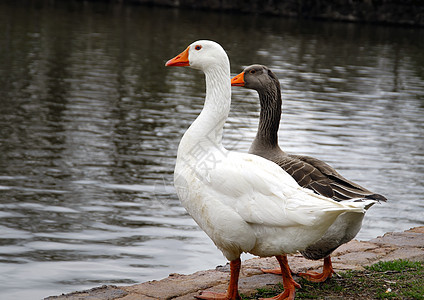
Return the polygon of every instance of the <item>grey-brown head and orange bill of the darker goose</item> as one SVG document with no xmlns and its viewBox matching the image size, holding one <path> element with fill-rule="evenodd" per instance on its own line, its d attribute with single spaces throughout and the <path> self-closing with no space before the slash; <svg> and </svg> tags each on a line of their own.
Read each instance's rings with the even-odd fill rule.
<svg viewBox="0 0 424 300">
<path fill-rule="evenodd" d="M 277 76 L 270 69 L 263 65 L 251 65 L 246 67 L 243 72 L 231 80 L 232 86 L 242 86 L 248 89 L 262 92 L 268 89 L 274 89 L 274 86 L 280 88 L 280 82 Z"/>
</svg>

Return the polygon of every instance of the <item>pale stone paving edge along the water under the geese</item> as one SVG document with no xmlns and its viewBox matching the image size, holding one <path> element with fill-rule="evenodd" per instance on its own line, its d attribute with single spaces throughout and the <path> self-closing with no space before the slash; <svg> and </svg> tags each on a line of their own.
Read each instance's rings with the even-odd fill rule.
<svg viewBox="0 0 424 300">
<path fill-rule="evenodd" d="M 408 259 L 424 261 L 424 226 L 414 227 L 403 232 L 388 232 L 369 241 L 352 240 L 342 245 L 332 254 L 336 272 L 363 270 L 364 266 L 379 261 Z M 300 254 L 288 256 L 293 272 L 320 270 L 322 260 L 313 261 Z M 281 276 L 264 274 L 261 268 L 276 268 L 274 257 L 251 258 L 243 261 L 240 273 L 239 290 L 252 295 L 258 288 L 276 285 Z M 294 277 L 295 280 L 297 276 Z M 189 275 L 171 273 L 167 278 L 152 280 L 129 286 L 104 285 L 90 290 L 50 296 L 45 300 L 153 300 L 153 299 L 194 299 L 201 290 L 224 292 L 229 280 L 229 265 L 218 266 L 214 270 L 198 271 Z"/>
</svg>

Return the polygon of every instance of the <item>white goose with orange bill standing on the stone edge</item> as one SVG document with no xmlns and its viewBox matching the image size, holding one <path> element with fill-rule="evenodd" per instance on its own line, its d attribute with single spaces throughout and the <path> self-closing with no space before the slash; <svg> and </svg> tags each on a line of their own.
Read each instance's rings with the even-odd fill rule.
<svg viewBox="0 0 424 300">
<path fill-rule="evenodd" d="M 316 242 L 344 212 L 363 213 L 374 200 L 339 203 L 300 187 L 277 164 L 222 146 L 230 111 L 230 63 L 222 47 L 200 40 L 169 60 L 166 66 L 190 66 L 206 75 L 206 99 L 178 147 L 174 184 L 178 197 L 197 224 L 230 261 L 227 293 L 203 292 L 199 299 L 240 299 L 240 255 L 277 256 L 284 293 L 273 299 L 294 299 L 295 287 L 282 254 L 304 250 Z"/>
</svg>

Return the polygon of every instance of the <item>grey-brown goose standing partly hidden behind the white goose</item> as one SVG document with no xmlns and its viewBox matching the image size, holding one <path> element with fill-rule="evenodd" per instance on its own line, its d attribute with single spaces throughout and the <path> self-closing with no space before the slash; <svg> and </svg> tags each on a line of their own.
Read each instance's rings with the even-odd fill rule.
<svg viewBox="0 0 424 300">
<path fill-rule="evenodd" d="M 281 90 L 278 78 L 266 66 L 252 65 L 231 80 L 231 85 L 254 89 L 261 105 L 259 127 L 249 153 L 277 163 L 300 186 L 336 201 L 354 201 L 358 198 L 386 201 L 364 187 L 347 180 L 325 162 L 305 155 L 287 154 L 278 146 L 278 128 L 281 117 Z M 315 244 L 301 251 L 308 259 L 324 258 L 323 272 L 300 273 L 302 277 L 323 282 L 334 273 L 330 254 L 340 245 L 353 239 L 362 226 L 364 215 L 345 213 L 340 215 L 326 234 Z M 280 273 L 279 270 L 267 270 Z"/>
</svg>

